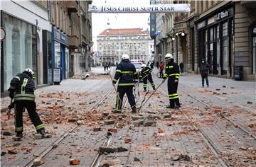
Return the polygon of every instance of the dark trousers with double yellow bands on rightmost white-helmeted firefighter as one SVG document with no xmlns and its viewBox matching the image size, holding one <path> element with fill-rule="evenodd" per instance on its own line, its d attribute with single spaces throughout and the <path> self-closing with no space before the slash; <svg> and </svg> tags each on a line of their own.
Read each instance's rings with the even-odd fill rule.
<svg viewBox="0 0 256 167">
<path fill-rule="evenodd" d="M 174 79 L 168 79 L 168 93 L 169 93 L 169 100 L 171 108 L 174 108 L 175 104 L 180 105 L 178 100 L 178 83 L 174 82 Z"/>
</svg>

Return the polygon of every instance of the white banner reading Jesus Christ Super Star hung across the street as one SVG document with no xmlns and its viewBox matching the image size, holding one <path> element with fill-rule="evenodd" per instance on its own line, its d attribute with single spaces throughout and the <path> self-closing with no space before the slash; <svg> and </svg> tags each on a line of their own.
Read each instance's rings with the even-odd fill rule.
<svg viewBox="0 0 256 167">
<path fill-rule="evenodd" d="M 154 5 L 89 5 L 89 12 L 93 13 L 176 13 L 190 12 L 190 4 L 154 4 Z"/>
</svg>

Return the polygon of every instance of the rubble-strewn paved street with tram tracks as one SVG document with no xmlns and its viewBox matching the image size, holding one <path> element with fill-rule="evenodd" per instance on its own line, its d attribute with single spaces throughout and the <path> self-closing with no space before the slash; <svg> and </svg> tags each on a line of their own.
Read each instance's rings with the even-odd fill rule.
<svg viewBox="0 0 256 167">
<path fill-rule="evenodd" d="M 115 67 L 111 67 L 112 77 Z M 161 79 L 152 76 L 156 87 Z M 156 90 L 139 113 L 132 114 L 127 97 L 114 114 L 116 93 L 102 67 L 90 76 L 73 76 L 60 85 L 38 88 L 37 112 L 49 138 L 37 139 L 28 113 L 23 113 L 23 138 L 14 141 L 11 119 L 1 113 L 1 166 L 256 166 L 256 100 L 254 81 L 234 81 L 181 74 L 178 96 L 181 109 L 169 104 L 167 82 Z M 137 109 L 153 92 L 137 86 Z M 146 94 L 146 97 L 145 97 Z M 1 108 L 9 105 L 1 98 Z M 13 153 L 13 154 L 11 154 Z"/>
</svg>

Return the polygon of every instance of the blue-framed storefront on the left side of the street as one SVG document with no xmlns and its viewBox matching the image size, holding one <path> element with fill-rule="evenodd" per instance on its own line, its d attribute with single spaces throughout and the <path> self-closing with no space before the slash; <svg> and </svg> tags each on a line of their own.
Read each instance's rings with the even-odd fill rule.
<svg viewBox="0 0 256 167">
<path fill-rule="evenodd" d="M 53 68 L 60 68 L 62 72 L 62 79 L 68 79 L 70 62 L 68 37 L 57 30 L 55 27 L 53 27 L 52 32 Z"/>
</svg>

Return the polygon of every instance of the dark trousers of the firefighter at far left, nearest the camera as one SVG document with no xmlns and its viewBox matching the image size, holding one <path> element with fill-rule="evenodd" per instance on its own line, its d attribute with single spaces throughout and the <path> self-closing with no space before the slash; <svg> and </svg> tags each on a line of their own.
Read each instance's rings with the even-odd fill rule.
<svg viewBox="0 0 256 167">
<path fill-rule="evenodd" d="M 28 115 L 39 132 L 44 129 L 43 122 L 40 120 L 38 113 L 36 113 L 36 102 L 32 100 L 16 100 L 15 101 L 15 132 L 23 132 L 23 110 L 28 110 Z"/>
</svg>

